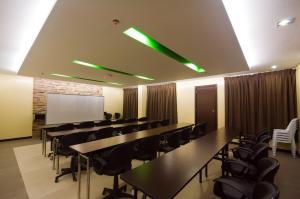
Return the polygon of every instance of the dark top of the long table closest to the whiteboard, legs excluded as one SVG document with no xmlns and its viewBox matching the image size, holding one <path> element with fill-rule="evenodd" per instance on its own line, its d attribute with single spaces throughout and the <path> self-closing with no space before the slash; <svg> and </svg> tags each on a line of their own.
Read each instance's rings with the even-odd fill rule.
<svg viewBox="0 0 300 199">
<path fill-rule="evenodd" d="M 81 128 L 81 129 L 73 129 L 73 130 L 67 130 L 67 131 L 53 131 L 53 132 L 47 132 L 47 135 L 49 137 L 58 137 L 58 136 L 70 135 L 70 134 L 74 134 L 74 133 L 98 131 L 100 129 L 104 129 L 107 127 L 122 128 L 122 127 L 129 126 L 129 125 L 141 125 L 141 124 L 145 124 L 145 123 L 150 123 L 150 121 L 112 124 L 112 125 L 105 125 L 105 126 L 94 126 L 91 128 Z"/>
</svg>

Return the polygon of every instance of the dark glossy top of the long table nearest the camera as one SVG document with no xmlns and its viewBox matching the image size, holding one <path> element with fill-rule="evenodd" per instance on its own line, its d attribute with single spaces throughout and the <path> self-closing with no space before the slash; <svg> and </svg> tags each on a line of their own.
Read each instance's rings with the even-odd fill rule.
<svg viewBox="0 0 300 199">
<path fill-rule="evenodd" d="M 173 198 L 235 135 L 224 128 L 210 132 L 122 174 L 121 179 L 152 198 Z"/>
</svg>

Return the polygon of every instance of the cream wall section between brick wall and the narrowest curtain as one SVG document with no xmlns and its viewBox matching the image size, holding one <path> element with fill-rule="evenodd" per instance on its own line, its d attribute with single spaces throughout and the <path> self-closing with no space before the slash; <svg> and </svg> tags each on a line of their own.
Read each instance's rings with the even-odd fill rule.
<svg viewBox="0 0 300 199">
<path fill-rule="evenodd" d="M 104 111 L 123 115 L 123 89 L 103 86 Z"/>
</svg>

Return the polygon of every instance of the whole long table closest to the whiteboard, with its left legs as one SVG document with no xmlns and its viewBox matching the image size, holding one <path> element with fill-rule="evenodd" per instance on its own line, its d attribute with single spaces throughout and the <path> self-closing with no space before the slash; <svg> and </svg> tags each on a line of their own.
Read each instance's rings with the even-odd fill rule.
<svg viewBox="0 0 300 199">
<path fill-rule="evenodd" d="M 151 121 L 138 121 L 138 122 L 131 122 L 131 123 L 94 126 L 91 128 L 76 128 L 73 130 L 51 131 L 51 132 L 47 132 L 47 128 L 43 128 L 42 129 L 42 155 L 44 155 L 45 157 L 47 155 L 47 137 L 56 138 L 56 137 L 70 135 L 70 134 L 74 134 L 74 133 L 93 132 L 93 131 L 98 131 L 100 129 L 107 128 L 107 127 L 113 127 L 113 128 L 119 129 L 119 128 L 129 126 L 129 125 L 141 125 L 141 124 L 150 123 L 150 122 Z M 49 126 L 50 125 L 48 125 L 48 127 Z M 54 126 L 54 125 L 52 125 L 52 126 Z M 53 128 L 52 126 L 51 126 L 51 128 Z M 57 126 L 57 125 L 55 125 L 55 126 Z"/>
</svg>

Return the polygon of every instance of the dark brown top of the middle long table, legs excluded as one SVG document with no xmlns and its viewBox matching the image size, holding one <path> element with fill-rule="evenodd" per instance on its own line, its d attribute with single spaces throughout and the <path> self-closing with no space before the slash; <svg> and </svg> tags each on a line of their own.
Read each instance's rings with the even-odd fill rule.
<svg viewBox="0 0 300 199">
<path fill-rule="evenodd" d="M 115 136 L 115 137 L 111 137 L 111 138 L 77 144 L 77 145 L 71 146 L 70 148 L 74 149 L 75 151 L 77 151 L 81 154 L 86 154 L 86 153 L 90 153 L 93 151 L 116 146 L 116 145 L 119 145 L 122 143 L 131 142 L 131 141 L 139 140 L 139 139 L 154 136 L 154 135 L 160 135 L 163 133 L 168 133 L 170 131 L 182 129 L 182 128 L 192 126 L 192 125 L 193 124 L 190 124 L 190 123 L 171 124 L 171 125 L 163 126 L 163 127 L 159 127 L 159 128 L 138 131 L 138 132 L 129 133 L 126 135 L 120 135 L 120 136 Z"/>
</svg>

